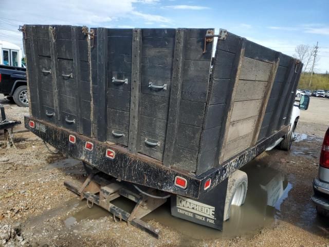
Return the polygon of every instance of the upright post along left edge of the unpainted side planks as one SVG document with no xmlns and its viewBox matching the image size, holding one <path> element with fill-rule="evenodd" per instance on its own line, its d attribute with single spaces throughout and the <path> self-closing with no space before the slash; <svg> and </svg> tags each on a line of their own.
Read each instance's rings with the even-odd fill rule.
<svg viewBox="0 0 329 247">
<path fill-rule="evenodd" d="M 245 48 L 246 48 L 247 40 L 245 38 L 239 38 L 239 39 L 240 39 L 239 48 L 237 49 L 237 52 L 235 55 L 233 68 L 232 68 L 232 74 L 231 74 L 232 93 L 228 94 L 228 97 L 226 100 L 226 114 L 224 116 L 227 116 L 227 117 L 224 120 L 224 122 L 225 122 L 224 130 L 221 133 L 220 138 L 218 140 L 218 146 L 217 146 L 218 149 L 217 149 L 217 153 L 216 153 L 216 160 L 218 160 L 218 162 L 215 162 L 216 167 L 218 167 L 220 164 L 222 164 L 222 162 L 224 160 L 224 147 L 226 144 L 228 131 L 230 128 L 231 116 L 232 116 L 232 111 L 233 111 L 233 106 L 234 106 L 234 99 L 235 99 L 237 84 L 239 84 L 241 66 L 242 66 L 243 58 L 245 56 Z M 223 137 L 223 138 L 221 138 L 221 137 Z"/>
</svg>

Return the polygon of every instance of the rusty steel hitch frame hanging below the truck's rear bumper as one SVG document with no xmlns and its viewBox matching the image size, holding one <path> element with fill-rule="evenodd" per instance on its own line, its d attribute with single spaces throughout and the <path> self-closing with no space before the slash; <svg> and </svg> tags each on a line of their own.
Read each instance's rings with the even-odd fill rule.
<svg viewBox="0 0 329 247">
<path fill-rule="evenodd" d="M 113 214 L 114 221 L 124 220 L 128 224 L 132 224 L 140 230 L 158 238 L 159 230 L 142 221 L 141 218 L 165 203 L 167 198 L 156 199 L 145 195 L 138 195 L 130 189 L 125 188 L 124 185 L 106 180 L 97 175 L 97 173 L 98 171 L 90 173 L 82 184 L 78 185 L 76 182 L 65 181 L 64 185 L 69 190 L 77 193 L 81 200 L 86 199 L 89 208 L 92 208 L 96 204 Z M 152 193 L 152 191 L 149 193 Z M 128 213 L 111 203 L 111 201 L 121 196 L 136 202 L 132 213 Z"/>
</svg>

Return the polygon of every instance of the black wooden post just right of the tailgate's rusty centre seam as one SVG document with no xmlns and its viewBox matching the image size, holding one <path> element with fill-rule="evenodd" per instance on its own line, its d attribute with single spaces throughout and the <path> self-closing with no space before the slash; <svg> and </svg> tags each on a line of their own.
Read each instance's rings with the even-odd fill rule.
<svg viewBox="0 0 329 247">
<path fill-rule="evenodd" d="M 97 85 L 98 85 L 98 116 L 97 139 L 106 141 L 107 133 L 107 29 L 97 29 Z"/>
</svg>

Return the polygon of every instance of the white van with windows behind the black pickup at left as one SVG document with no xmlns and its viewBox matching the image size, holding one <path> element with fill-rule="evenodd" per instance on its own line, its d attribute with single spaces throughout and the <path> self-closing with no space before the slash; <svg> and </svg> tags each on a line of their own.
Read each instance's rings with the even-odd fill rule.
<svg viewBox="0 0 329 247">
<path fill-rule="evenodd" d="M 0 41 L 0 64 L 22 67 L 21 47 L 7 41 Z"/>
</svg>

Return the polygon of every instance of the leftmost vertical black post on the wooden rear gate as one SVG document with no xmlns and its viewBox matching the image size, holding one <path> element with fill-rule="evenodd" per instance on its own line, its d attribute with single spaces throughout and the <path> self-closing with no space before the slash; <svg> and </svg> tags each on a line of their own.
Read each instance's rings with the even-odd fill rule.
<svg viewBox="0 0 329 247">
<path fill-rule="evenodd" d="M 34 86 L 36 87 L 35 88 L 35 93 L 36 93 L 36 102 L 34 104 L 34 106 L 32 107 L 32 101 L 29 101 L 30 102 L 30 108 L 31 108 L 31 111 L 32 109 L 35 109 L 35 112 L 32 112 L 33 113 L 33 116 L 34 117 L 38 117 L 40 118 L 40 115 L 41 115 L 41 96 L 40 96 L 40 90 L 41 90 L 41 85 L 40 85 L 40 81 L 39 81 L 39 72 L 38 72 L 38 63 L 39 61 L 37 61 L 38 59 L 38 52 L 36 51 L 36 47 L 38 47 L 38 44 L 37 44 L 37 40 L 35 38 L 35 34 L 36 34 L 36 31 L 35 31 L 35 26 L 31 26 L 31 36 L 30 36 L 30 45 L 31 45 L 31 60 L 32 60 L 32 65 L 30 66 L 32 68 L 32 76 L 29 76 L 29 80 L 35 80 L 34 82 Z M 27 65 L 29 66 L 29 65 Z M 29 73 L 30 75 L 30 73 Z M 28 83 L 28 85 L 30 85 L 30 83 Z M 35 97 L 35 96 L 34 96 Z"/>
</svg>

